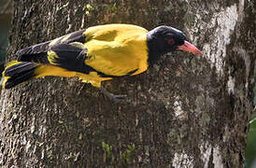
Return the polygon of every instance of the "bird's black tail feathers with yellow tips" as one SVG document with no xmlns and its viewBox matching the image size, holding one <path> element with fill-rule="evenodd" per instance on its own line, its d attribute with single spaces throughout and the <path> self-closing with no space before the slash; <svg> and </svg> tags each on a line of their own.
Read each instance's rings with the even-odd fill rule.
<svg viewBox="0 0 256 168">
<path fill-rule="evenodd" d="M 26 80 L 36 77 L 35 70 L 38 66 L 38 63 L 17 61 L 8 63 L 3 72 L 2 87 L 10 89 Z"/>
</svg>

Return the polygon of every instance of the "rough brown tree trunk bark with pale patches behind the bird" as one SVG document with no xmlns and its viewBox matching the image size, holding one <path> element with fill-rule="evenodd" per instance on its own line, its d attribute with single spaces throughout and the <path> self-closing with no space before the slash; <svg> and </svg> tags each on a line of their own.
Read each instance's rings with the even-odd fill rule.
<svg viewBox="0 0 256 168">
<path fill-rule="evenodd" d="M 242 167 L 252 111 L 255 5 L 51 0 L 14 2 L 7 60 L 18 49 L 108 22 L 183 30 L 203 58 L 169 53 L 135 77 L 107 81 L 114 104 L 76 78 L 2 91 L 3 167 Z"/>
</svg>

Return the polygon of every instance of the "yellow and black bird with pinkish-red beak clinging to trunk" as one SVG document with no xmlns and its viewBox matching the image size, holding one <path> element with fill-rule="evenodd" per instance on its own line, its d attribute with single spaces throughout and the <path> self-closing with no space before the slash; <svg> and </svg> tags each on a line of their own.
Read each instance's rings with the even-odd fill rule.
<svg viewBox="0 0 256 168">
<path fill-rule="evenodd" d="M 134 24 L 96 25 L 18 50 L 18 59 L 7 63 L 1 85 L 11 89 L 38 77 L 78 77 L 107 97 L 121 100 L 126 95 L 107 91 L 102 82 L 141 74 L 162 55 L 175 50 L 203 55 L 184 33 L 171 26 L 148 31 Z"/>
</svg>

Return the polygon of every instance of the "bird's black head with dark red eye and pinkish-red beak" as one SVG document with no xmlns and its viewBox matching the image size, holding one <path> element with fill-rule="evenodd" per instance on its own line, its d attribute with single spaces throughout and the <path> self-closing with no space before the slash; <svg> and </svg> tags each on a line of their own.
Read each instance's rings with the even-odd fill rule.
<svg viewBox="0 0 256 168">
<path fill-rule="evenodd" d="M 186 36 L 176 28 L 159 26 L 147 34 L 149 57 L 156 60 L 158 56 L 177 49 L 186 50 L 194 54 L 202 54 L 192 44 L 186 41 Z M 150 58 L 149 58 L 150 59 Z"/>
</svg>

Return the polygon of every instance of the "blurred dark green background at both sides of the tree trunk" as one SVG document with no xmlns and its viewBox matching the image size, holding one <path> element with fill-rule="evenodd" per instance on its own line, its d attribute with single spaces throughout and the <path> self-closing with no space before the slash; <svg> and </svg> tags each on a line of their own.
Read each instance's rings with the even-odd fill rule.
<svg viewBox="0 0 256 168">
<path fill-rule="evenodd" d="M 0 1 L 0 72 L 4 68 L 7 50 L 7 37 L 11 24 L 11 0 Z M 256 77 L 256 70 L 254 72 Z M 0 90 L 1 91 L 1 90 Z M 256 95 L 256 87 L 254 87 L 254 95 Z M 256 96 L 254 96 L 254 105 L 256 105 Z M 246 150 L 245 168 L 256 168 L 256 109 L 250 121 L 248 146 Z"/>
</svg>

